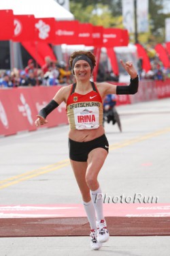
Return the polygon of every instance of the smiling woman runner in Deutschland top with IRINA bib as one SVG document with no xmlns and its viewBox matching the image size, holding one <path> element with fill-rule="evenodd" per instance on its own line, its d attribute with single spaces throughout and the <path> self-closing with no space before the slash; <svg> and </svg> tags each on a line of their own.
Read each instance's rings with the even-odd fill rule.
<svg viewBox="0 0 170 256">
<path fill-rule="evenodd" d="M 69 158 L 90 223 L 90 245 L 92 250 L 98 250 L 109 239 L 97 180 L 109 151 L 103 128 L 103 99 L 107 94 L 135 94 L 139 81 L 130 61 L 124 63 L 120 60 L 131 76 L 130 84 L 123 86 L 90 81 L 96 65 L 95 55 L 90 51 L 73 52 L 69 63 L 76 82 L 57 91 L 50 103 L 39 111 L 35 126 L 46 124 L 47 115 L 61 102 L 66 103 L 70 128 Z"/>
</svg>

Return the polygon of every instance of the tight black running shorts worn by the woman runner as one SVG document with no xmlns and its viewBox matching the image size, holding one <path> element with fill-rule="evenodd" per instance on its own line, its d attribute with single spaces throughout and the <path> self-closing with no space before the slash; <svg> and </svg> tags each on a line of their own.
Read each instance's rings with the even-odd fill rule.
<svg viewBox="0 0 170 256">
<path fill-rule="evenodd" d="M 109 152 L 109 143 L 105 134 L 92 141 L 78 142 L 69 139 L 69 158 L 78 162 L 86 162 L 91 150 L 102 147 Z"/>
</svg>

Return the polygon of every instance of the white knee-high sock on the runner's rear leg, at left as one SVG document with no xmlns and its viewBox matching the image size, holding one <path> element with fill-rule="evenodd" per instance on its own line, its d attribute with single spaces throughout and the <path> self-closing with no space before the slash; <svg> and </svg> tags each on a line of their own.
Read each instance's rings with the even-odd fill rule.
<svg viewBox="0 0 170 256">
<path fill-rule="evenodd" d="M 92 201 L 88 203 L 83 201 L 83 205 L 87 214 L 88 221 L 90 223 L 90 228 L 97 230 L 96 213 Z"/>
</svg>

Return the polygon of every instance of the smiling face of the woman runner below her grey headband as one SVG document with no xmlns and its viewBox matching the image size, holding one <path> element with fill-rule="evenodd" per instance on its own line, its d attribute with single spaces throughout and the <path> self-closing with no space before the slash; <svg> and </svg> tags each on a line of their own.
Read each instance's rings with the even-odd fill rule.
<svg viewBox="0 0 170 256">
<path fill-rule="evenodd" d="M 73 68 L 76 79 L 86 80 L 90 79 L 91 76 L 91 68 L 87 61 L 80 60 L 75 62 L 75 66 Z"/>
</svg>

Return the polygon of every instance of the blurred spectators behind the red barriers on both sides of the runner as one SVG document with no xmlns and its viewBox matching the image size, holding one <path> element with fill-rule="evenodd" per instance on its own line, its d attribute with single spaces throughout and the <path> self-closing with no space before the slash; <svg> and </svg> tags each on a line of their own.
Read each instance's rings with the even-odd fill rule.
<svg viewBox="0 0 170 256">
<path fill-rule="evenodd" d="M 152 53 L 152 54 L 150 54 Z M 148 52 L 151 69 L 146 72 L 142 69 L 142 59 L 138 60 L 138 74 L 140 80 L 152 79 L 158 81 L 165 81 L 170 78 L 170 67 L 165 68 L 163 63 L 153 50 Z M 99 65 L 97 74 L 97 81 L 119 81 L 118 74 L 110 72 L 108 67 Z M 46 56 L 44 59 L 44 66 L 37 68 L 37 64 L 33 59 L 29 59 L 27 67 L 24 70 L 0 70 L 0 88 L 3 87 L 20 87 L 20 86 L 35 86 L 35 85 L 67 85 L 73 82 L 73 74 L 69 70 L 67 63 L 64 61 L 53 61 Z"/>
</svg>

